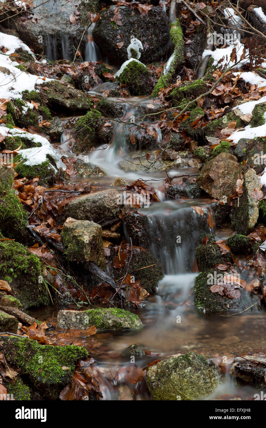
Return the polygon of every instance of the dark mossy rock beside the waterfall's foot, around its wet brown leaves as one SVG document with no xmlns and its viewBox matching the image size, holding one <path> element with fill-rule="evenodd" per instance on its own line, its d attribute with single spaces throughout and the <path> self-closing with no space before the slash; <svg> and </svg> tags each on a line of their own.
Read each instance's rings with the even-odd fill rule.
<svg viewBox="0 0 266 428">
<path fill-rule="evenodd" d="M 223 275 L 224 272 L 218 270 L 216 276 L 219 273 Z M 210 291 L 211 285 L 214 284 L 214 278 L 214 270 L 209 270 L 200 272 L 194 279 L 194 304 L 196 308 L 204 312 L 226 312 L 238 309 L 239 299 L 229 299 L 229 297 L 224 297 L 219 293 L 212 293 Z"/>
</svg>

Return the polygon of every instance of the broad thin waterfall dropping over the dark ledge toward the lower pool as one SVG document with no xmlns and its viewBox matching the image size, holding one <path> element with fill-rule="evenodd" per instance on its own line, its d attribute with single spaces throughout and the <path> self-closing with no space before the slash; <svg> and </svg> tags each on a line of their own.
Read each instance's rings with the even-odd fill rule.
<svg viewBox="0 0 266 428">
<path fill-rule="evenodd" d="M 191 205 L 200 205 L 202 215 Z M 138 211 L 146 214 L 143 238 L 145 235 L 148 249 L 159 260 L 164 274 L 191 272 L 200 233 L 212 231 L 208 207 L 195 201 L 167 201 Z"/>
</svg>

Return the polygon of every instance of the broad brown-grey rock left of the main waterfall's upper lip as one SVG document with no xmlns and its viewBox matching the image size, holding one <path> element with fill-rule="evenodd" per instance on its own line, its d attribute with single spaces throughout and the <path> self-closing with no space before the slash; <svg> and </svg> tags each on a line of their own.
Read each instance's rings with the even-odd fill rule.
<svg viewBox="0 0 266 428">
<path fill-rule="evenodd" d="M 117 201 L 119 201 L 119 193 L 116 189 L 89 193 L 69 202 L 60 218 L 65 221 L 67 217 L 72 217 L 76 220 L 89 220 L 103 224 L 118 218 L 122 206 Z"/>
</svg>

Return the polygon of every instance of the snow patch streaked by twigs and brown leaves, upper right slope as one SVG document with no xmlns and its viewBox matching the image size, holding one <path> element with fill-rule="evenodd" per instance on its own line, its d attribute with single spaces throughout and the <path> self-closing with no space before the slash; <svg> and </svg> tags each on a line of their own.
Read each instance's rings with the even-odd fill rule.
<svg viewBox="0 0 266 428">
<path fill-rule="evenodd" d="M 208 51 L 205 49 L 205 51 L 202 54 L 202 58 L 205 58 L 205 56 L 212 56 L 213 57 L 213 64 L 217 65 L 219 60 L 223 58 L 222 62 L 219 62 L 219 67 L 222 65 L 222 67 L 233 67 L 233 68 L 240 68 L 243 64 L 246 64 L 249 62 L 248 57 L 242 59 L 239 64 L 235 64 L 235 62 L 230 61 L 231 54 L 233 49 L 236 48 L 236 55 L 237 55 L 237 62 L 240 61 L 241 55 L 243 54 L 244 45 L 240 43 L 238 40 L 235 41 L 234 45 L 230 45 L 227 48 L 224 49 L 216 49 L 216 51 Z M 246 56 L 248 55 L 248 52 L 246 52 Z"/>
</svg>

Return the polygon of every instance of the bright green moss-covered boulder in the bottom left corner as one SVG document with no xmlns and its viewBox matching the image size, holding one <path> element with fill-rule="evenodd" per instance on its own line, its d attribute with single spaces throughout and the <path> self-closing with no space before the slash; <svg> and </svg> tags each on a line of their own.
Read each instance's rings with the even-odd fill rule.
<svg viewBox="0 0 266 428">
<path fill-rule="evenodd" d="M 0 338 L 0 350 L 44 398 L 52 400 L 72 378 L 76 362 L 88 356 L 88 351 L 79 346 L 39 345 L 17 337 Z"/>
</svg>

